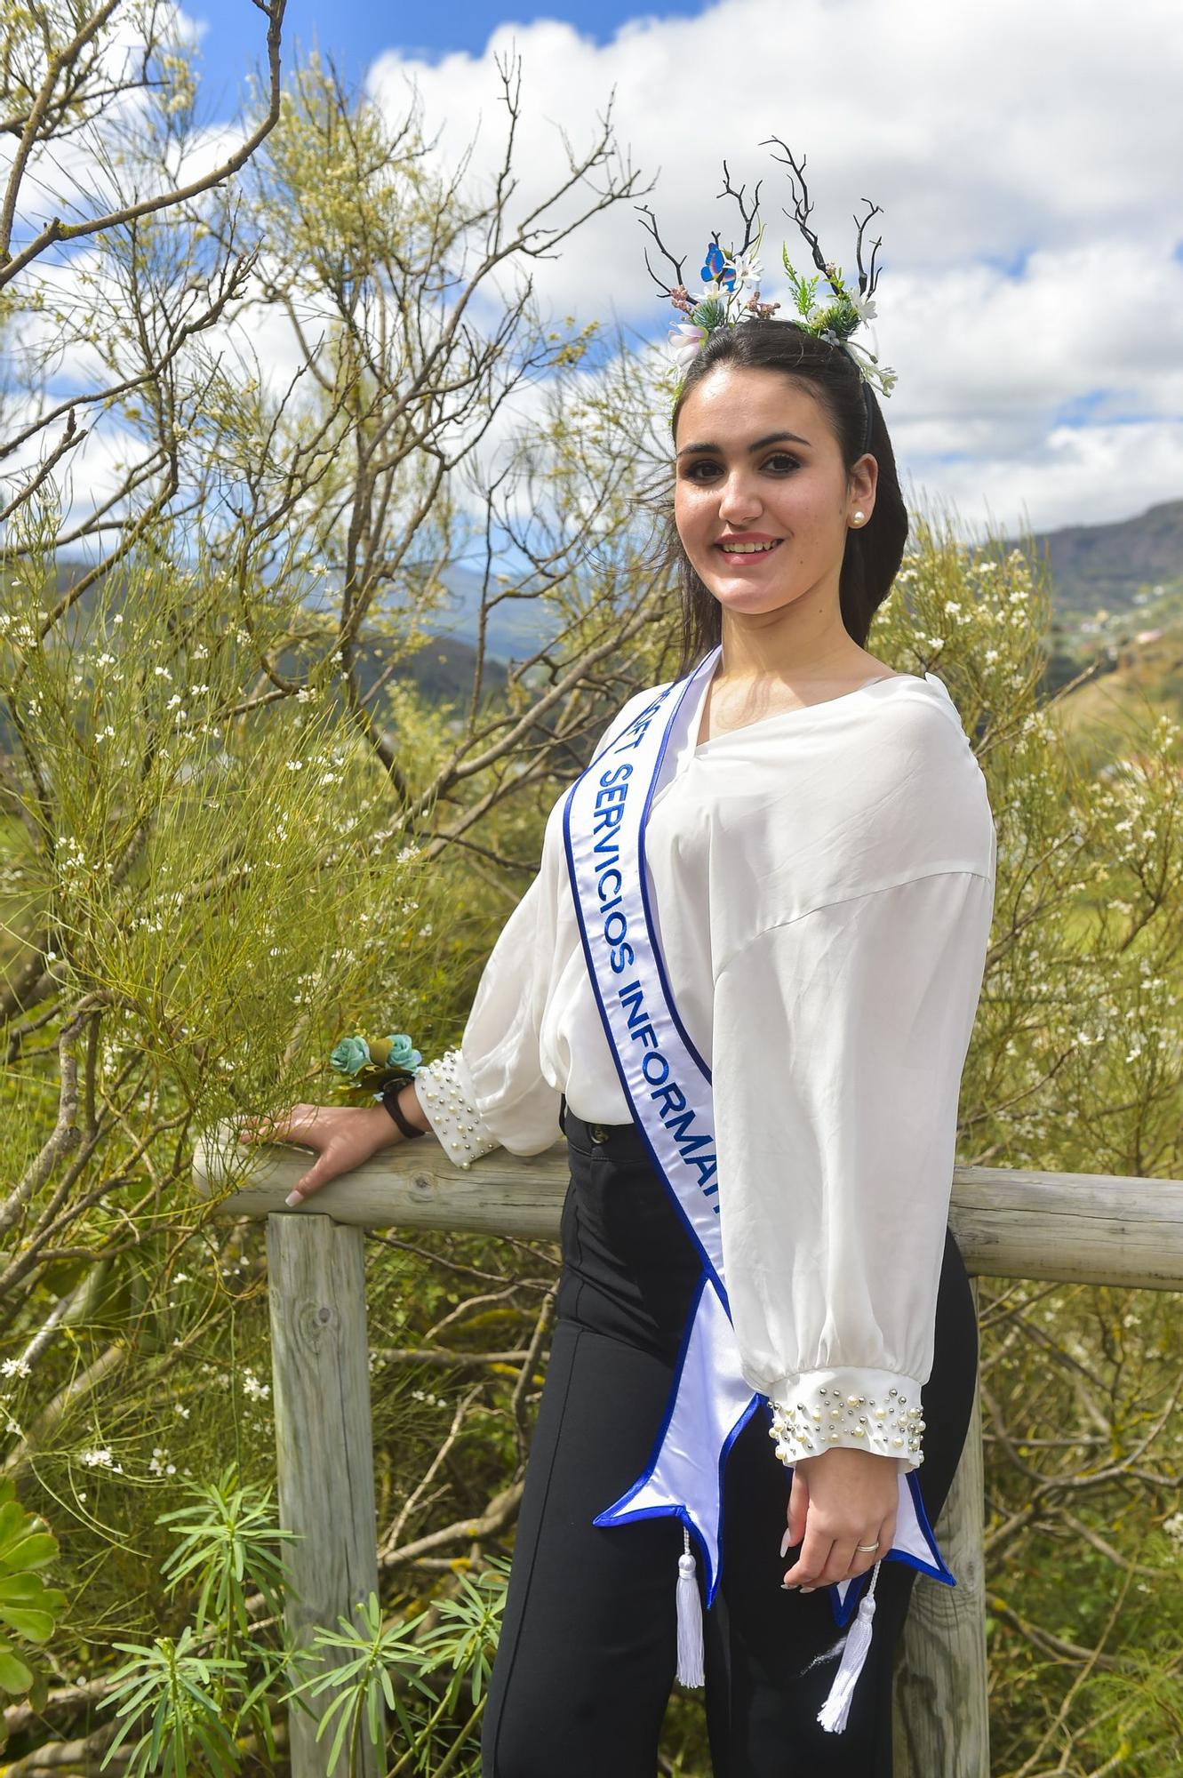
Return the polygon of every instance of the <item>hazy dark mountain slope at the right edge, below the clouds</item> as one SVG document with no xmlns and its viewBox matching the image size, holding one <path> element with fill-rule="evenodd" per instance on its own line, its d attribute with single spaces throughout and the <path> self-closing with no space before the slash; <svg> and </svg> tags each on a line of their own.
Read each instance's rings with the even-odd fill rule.
<svg viewBox="0 0 1183 1778">
<path fill-rule="evenodd" d="M 1116 525 L 1039 532 L 1034 544 L 1036 557 L 1046 557 L 1052 569 L 1055 610 L 1066 617 L 1128 612 L 1139 592 L 1183 590 L 1183 500 Z"/>
</svg>

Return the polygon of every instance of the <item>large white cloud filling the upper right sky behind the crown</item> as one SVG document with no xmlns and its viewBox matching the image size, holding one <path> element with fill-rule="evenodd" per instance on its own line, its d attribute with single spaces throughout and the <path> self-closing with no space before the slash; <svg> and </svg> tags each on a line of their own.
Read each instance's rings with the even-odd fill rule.
<svg viewBox="0 0 1183 1778">
<path fill-rule="evenodd" d="M 808 265 L 783 169 L 758 146 L 773 133 L 808 156 L 812 226 L 847 272 L 854 212 L 883 206 L 869 240 L 883 235 L 876 334 L 899 372 L 901 473 L 954 500 L 966 530 L 1124 517 L 1183 493 L 1176 0 L 1119 23 L 1100 0 L 721 0 L 606 44 L 544 20 L 497 27 L 481 55 L 391 52 L 369 91 L 401 116 L 410 76 L 444 160 L 476 135 L 471 178 L 487 180 L 506 124 L 496 59 L 512 50 L 517 213 L 560 180 L 560 128 L 586 148 L 613 89 L 618 142 L 641 185 L 655 178 L 641 201 L 695 277 L 711 229 L 726 240 L 737 219 L 716 201 L 723 156 L 734 181 L 764 181 L 766 267 L 782 238 Z M 560 313 L 652 331 L 666 311 L 645 242 L 620 203 L 536 261 L 536 288 Z M 993 267 L 1023 260 L 1018 277 Z M 1066 425 L 1075 411 L 1084 423 Z"/>
</svg>

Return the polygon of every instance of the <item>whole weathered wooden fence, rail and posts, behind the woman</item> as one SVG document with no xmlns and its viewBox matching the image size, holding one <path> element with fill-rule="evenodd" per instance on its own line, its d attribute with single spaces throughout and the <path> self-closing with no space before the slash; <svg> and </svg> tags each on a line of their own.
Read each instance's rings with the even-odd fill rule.
<svg viewBox="0 0 1183 1778">
<path fill-rule="evenodd" d="M 266 1218 L 279 1511 L 297 1645 L 355 1618 L 378 1591 L 362 1243 L 366 1229 L 449 1229 L 558 1237 L 567 1145 L 496 1149 L 453 1166 L 426 1136 L 389 1149 L 298 1209 L 284 1198 L 307 1152 L 243 1150 L 227 1125 L 197 1149 L 194 1182 L 224 1216 Z M 972 1278 L 1048 1278 L 1183 1291 L 1183 1181 L 959 1166 L 949 1213 Z M 977 1285 L 973 1285 L 977 1294 Z M 961 1465 L 936 1538 L 957 1586 L 918 1584 L 895 1687 L 899 1778 L 989 1778 L 982 1422 L 975 1390 Z M 329 1737 L 291 1714 L 293 1778 L 323 1778 Z M 366 1748 L 359 1778 L 382 1778 Z"/>
</svg>

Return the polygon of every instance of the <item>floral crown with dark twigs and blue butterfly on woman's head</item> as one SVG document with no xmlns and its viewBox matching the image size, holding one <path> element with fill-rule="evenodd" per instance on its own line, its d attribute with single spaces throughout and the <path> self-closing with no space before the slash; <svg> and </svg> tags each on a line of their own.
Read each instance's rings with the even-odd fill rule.
<svg viewBox="0 0 1183 1778">
<path fill-rule="evenodd" d="M 778 148 L 785 149 L 787 158 L 782 160 L 780 155 L 774 155 L 773 158 L 782 160 L 782 165 L 789 167 L 794 220 L 810 244 L 814 265 L 817 267 L 815 277 L 801 276 L 789 260 L 789 249 L 782 247 L 782 263 L 789 274 L 789 286 L 798 306 L 798 315 L 794 316 L 792 325 L 799 327 L 803 332 L 814 334 L 819 340 L 828 340 L 830 345 L 842 347 L 854 361 L 863 382 L 874 384 L 881 395 L 890 395 L 897 382 L 895 372 L 879 364 L 877 352 L 872 352 L 851 340 L 851 334 L 865 322 L 870 322 L 876 313 L 876 306 L 872 302 L 876 284 L 879 281 L 876 252 L 883 242 L 874 242 L 870 251 L 870 267 L 863 267 L 863 231 L 870 219 L 881 213 L 879 206 L 872 204 L 869 197 L 863 197 L 863 203 L 870 208 L 861 222 L 858 222 L 858 217 L 854 219 L 858 222 L 858 293 L 854 293 L 846 284 L 842 267 L 826 260 L 817 235 L 808 226 L 810 210 L 814 206 L 808 199 L 808 188 L 805 185 L 805 156 L 801 156 L 801 165 L 798 165 L 780 137 L 773 135 L 767 137 L 767 140 L 776 142 Z M 799 194 L 798 181 L 801 183 Z M 682 316 L 670 327 L 670 354 L 682 373 L 691 366 L 702 345 L 712 332 L 716 332 L 716 329 L 741 327 L 748 320 L 769 320 L 780 308 L 780 302 L 760 300 L 760 279 L 764 276 L 758 258 L 764 226 L 757 224 L 760 185 L 757 183 L 751 204 L 746 204 L 742 185 L 739 190 L 734 188 L 726 171 L 726 162 L 723 162 L 723 190 L 719 192 L 719 197 L 726 196 L 734 197 L 739 204 L 739 215 L 744 224 L 744 238 L 739 247 L 725 251 L 719 245 L 718 231 L 711 236 L 705 265 L 702 268 L 703 288 L 695 295 L 691 295 L 682 279 L 682 265 L 686 263 L 686 258 L 675 260 L 668 251 L 657 233 L 657 222 L 648 204 L 636 206 L 641 212 L 645 228 L 648 228 L 650 235 L 657 242 L 657 247 L 675 272 L 675 283 L 663 284 L 648 263 L 648 251 L 645 252 L 645 265 L 650 277 L 655 281 L 663 297 L 668 297 L 675 311 Z M 787 210 L 785 215 L 789 215 Z M 822 302 L 817 302 L 817 286 L 822 277 L 830 284 L 831 295 Z"/>
</svg>

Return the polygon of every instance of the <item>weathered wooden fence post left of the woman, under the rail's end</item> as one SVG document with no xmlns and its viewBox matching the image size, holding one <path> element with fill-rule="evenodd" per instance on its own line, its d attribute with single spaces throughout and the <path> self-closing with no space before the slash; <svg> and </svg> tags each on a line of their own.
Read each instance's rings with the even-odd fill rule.
<svg viewBox="0 0 1183 1778">
<path fill-rule="evenodd" d="M 284 1545 L 297 1646 L 314 1625 L 339 1630 L 339 1616 L 361 1627 L 357 1604 L 378 1593 L 364 1241 L 362 1229 L 309 1211 L 266 1218 L 279 1518 L 300 1536 Z M 329 1664 L 332 1655 L 320 1671 Z M 336 1718 L 320 1744 L 316 1726 L 336 1694 L 302 1696 L 307 1710 L 293 1700 L 288 1714 L 291 1778 L 325 1778 Z M 357 1778 L 385 1773 L 382 1709 L 378 1732 L 375 1748 L 362 1719 Z"/>
</svg>

